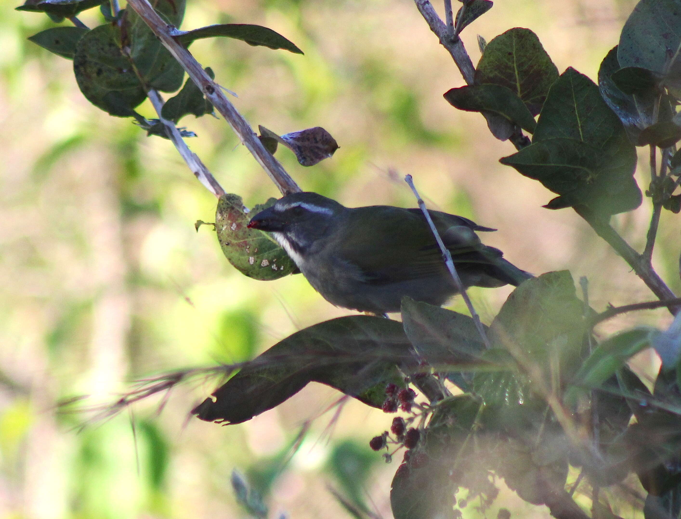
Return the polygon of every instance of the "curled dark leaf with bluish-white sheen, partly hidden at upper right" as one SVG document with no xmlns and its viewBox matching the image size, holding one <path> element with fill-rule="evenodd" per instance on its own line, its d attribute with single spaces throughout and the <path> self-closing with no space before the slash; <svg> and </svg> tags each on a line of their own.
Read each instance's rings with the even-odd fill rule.
<svg viewBox="0 0 681 519">
<path fill-rule="evenodd" d="M 641 130 L 655 122 L 657 95 L 654 91 L 635 96 L 622 92 L 612 80 L 612 75 L 619 69 L 620 63 L 617 61 L 617 46 L 615 46 L 601 62 L 598 71 L 599 91 L 607 106 L 622 121 L 629 134 L 629 140 L 636 144 Z"/>
</svg>

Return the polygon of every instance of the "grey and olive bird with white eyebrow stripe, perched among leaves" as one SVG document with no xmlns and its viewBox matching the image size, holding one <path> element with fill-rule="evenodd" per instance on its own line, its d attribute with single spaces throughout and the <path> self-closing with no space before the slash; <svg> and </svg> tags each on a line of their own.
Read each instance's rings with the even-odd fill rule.
<svg viewBox="0 0 681 519">
<path fill-rule="evenodd" d="M 475 234 L 494 229 L 429 212 L 464 287 L 519 285 L 532 277 Z M 400 311 L 402 296 L 441 305 L 458 293 L 420 209 L 349 208 L 317 193 L 293 193 L 257 213 L 248 226 L 272 233 L 315 290 L 336 306 L 381 315 Z"/>
</svg>

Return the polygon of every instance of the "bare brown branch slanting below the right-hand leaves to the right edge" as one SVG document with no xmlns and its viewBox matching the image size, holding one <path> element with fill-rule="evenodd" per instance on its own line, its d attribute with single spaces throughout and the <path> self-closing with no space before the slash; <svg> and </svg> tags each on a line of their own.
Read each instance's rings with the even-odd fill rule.
<svg viewBox="0 0 681 519">
<path fill-rule="evenodd" d="M 592 229 L 595 230 L 596 234 L 609 243 L 622 259 L 633 268 L 637 276 L 648 285 L 648 288 L 652 290 L 652 293 L 655 294 L 657 298 L 663 301 L 676 298 L 674 292 L 671 292 L 671 289 L 662 281 L 657 272 L 655 272 L 650 265 L 650 262 L 646 262 L 642 255 L 637 253 L 605 219 L 593 213 L 586 206 L 576 206 L 574 209 L 577 215 L 584 218 Z M 669 311 L 674 315 L 676 315 L 680 309 L 681 305 L 674 304 L 673 306 L 669 306 Z"/>
</svg>

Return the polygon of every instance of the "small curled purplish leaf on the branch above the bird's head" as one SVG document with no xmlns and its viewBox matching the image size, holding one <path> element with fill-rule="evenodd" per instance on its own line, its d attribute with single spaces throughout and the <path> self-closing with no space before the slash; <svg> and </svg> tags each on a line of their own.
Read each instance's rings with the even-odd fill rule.
<svg viewBox="0 0 681 519">
<path fill-rule="evenodd" d="M 279 142 L 296 154 L 300 166 L 314 166 L 323 159 L 332 157 L 338 149 L 336 140 L 320 126 L 292 131 L 281 137 L 264 126 L 259 126 L 259 129 L 260 140 L 270 150 L 270 153 L 276 151 L 274 143 Z"/>
</svg>

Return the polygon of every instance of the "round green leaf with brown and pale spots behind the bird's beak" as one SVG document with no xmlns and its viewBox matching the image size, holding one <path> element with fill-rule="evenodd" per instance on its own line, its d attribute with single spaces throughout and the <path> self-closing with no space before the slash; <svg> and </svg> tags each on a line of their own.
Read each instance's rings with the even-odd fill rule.
<svg viewBox="0 0 681 519">
<path fill-rule="evenodd" d="M 251 213 L 259 213 L 274 204 L 270 198 Z M 215 230 L 223 254 L 242 274 L 260 281 L 271 281 L 291 274 L 296 264 L 267 234 L 247 227 L 250 217 L 238 195 L 220 197 L 215 213 Z"/>
</svg>

